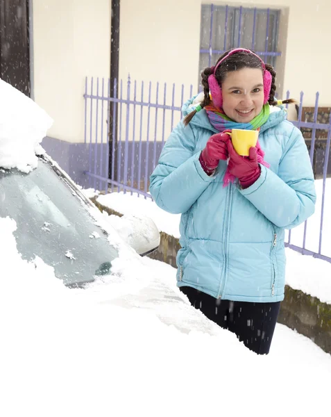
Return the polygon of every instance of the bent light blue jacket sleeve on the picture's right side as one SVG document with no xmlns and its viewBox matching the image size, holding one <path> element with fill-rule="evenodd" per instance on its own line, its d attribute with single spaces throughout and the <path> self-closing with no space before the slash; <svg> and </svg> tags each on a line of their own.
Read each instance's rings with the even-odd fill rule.
<svg viewBox="0 0 331 417">
<path fill-rule="evenodd" d="M 240 193 L 278 227 L 292 229 L 314 213 L 314 174 L 299 129 L 291 132 L 278 174 L 261 166 L 260 178 Z"/>
</svg>

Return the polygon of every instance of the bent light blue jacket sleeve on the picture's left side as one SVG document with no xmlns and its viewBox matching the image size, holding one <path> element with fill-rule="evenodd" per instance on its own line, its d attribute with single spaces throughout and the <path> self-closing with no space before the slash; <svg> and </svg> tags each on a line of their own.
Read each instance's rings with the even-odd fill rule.
<svg viewBox="0 0 331 417">
<path fill-rule="evenodd" d="M 201 167 L 201 152 L 196 153 L 195 146 L 192 127 L 181 121 L 171 132 L 151 174 L 151 195 L 169 213 L 185 213 L 214 179 Z"/>
</svg>

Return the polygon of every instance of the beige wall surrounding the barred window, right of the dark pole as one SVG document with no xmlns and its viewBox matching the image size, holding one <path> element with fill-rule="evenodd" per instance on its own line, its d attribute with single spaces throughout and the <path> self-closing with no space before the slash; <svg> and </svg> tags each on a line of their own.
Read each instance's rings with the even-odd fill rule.
<svg viewBox="0 0 331 417">
<path fill-rule="evenodd" d="M 203 1 L 282 9 L 279 34 L 284 73 L 279 78 L 291 97 L 305 92 L 305 105 L 331 104 L 328 83 L 331 54 L 331 2 L 310 0 Z M 133 79 L 193 84 L 198 79 L 201 0 L 121 0 L 120 76 Z M 287 25 L 288 20 L 288 25 Z"/>
</svg>

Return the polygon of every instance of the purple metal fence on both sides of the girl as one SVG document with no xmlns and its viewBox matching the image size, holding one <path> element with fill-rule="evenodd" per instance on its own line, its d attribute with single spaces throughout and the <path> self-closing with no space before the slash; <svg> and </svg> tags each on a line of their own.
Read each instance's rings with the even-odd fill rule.
<svg viewBox="0 0 331 417">
<path fill-rule="evenodd" d="M 132 83 L 130 76 L 126 84 L 126 97 L 124 97 L 122 81 L 119 83 L 119 88 L 115 81 L 114 97 L 110 97 L 109 80 L 106 88 L 104 79 L 96 80 L 96 94 L 94 87 L 94 79 L 91 79 L 88 92 L 86 79 L 85 144 L 89 149 L 89 168 L 85 173 L 90 177 L 90 186 L 99 188 L 105 193 L 123 191 L 151 198 L 148 193 L 149 177 L 158 163 L 164 141 L 173 126 L 180 121 L 180 109 L 184 97 L 192 97 L 192 85 L 189 86 L 189 90 L 186 89 L 188 90 L 186 92 L 182 85 L 176 95 L 176 86 L 173 84 L 169 97 L 170 104 L 167 104 L 166 83 L 162 89 L 162 98 L 160 98 L 160 84 L 155 85 L 153 89 L 155 100 L 152 99 L 151 82 L 148 83 L 147 91 L 142 82 L 138 96 L 137 83 L 136 81 Z M 133 98 L 131 98 L 132 89 Z M 99 95 L 100 90 L 101 95 Z M 148 99 L 146 100 L 145 97 Z M 289 231 L 286 245 L 303 254 L 331 262 L 331 216 L 325 215 L 331 211 L 331 161 L 329 164 L 331 112 L 330 108 L 319 107 L 319 93 L 316 93 L 314 108 L 304 107 L 303 97 L 301 92 L 300 106 L 297 109 L 298 117 L 293 123 L 303 131 L 307 142 L 320 199 L 314 219 L 311 218 L 302 227 Z M 110 103 L 113 104 L 111 112 Z M 117 120 L 117 115 L 118 124 L 115 122 L 111 124 L 111 121 Z M 113 139 L 111 147 L 110 136 Z M 328 208 L 325 209 L 327 205 Z M 325 222 L 327 222 L 326 226 Z M 322 247 L 322 238 L 325 236 L 330 240 L 330 243 L 327 240 L 326 250 L 324 246 Z M 327 253 L 328 250 L 330 253 Z"/>
</svg>

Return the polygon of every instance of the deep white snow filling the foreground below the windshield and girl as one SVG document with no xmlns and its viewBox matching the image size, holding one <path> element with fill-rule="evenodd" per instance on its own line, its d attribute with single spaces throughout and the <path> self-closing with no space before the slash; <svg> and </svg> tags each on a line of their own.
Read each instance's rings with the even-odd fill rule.
<svg viewBox="0 0 331 417">
<path fill-rule="evenodd" d="M 0 415 L 328 414 L 331 357 L 277 325 L 268 356 L 189 305 L 171 266 L 132 256 L 66 288 L 0 219 Z"/>
</svg>

